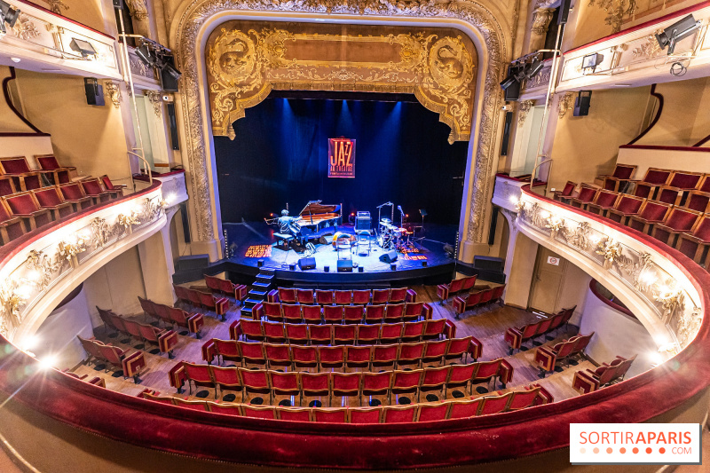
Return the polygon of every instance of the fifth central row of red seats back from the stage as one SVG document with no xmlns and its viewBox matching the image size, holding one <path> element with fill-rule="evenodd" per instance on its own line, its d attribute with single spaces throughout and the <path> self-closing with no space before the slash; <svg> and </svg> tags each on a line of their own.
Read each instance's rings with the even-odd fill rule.
<svg viewBox="0 0 710 473">
<path fill-rule="evenodd" d="M 447 367 L 426 367 L 406 371 L 381 371 L 379 373 L 308 373 L 280 372 L 272 370 L 252 370 L 243 367 L 213 367 L 195 365 L 185 361 L 170 369 L 170 386 L 182 392 L 185 382 L 190 393 L 193 385 L 209 386 L 219 390 L 241 391 L 243 402 L 249 393 L 268 394 L 269 404 L 274 404 L 276 396 L 299 396 L 299 404 L 309 396 L 327 396 L 332 406 L 333 397 L 359 398 L 363 396 L 386 396 L 391 404 L 392 395 L 409 394 L 416 396 L 417 402 L 422 391 L 439 391 L 446 398 L 447 390 L 469 389 L 477 382 L 490 382 L 499 378 L 505 386 L 513 377 L 513 367 L 505 359 L 482 361 L 469 365 Z"/>
</svg>

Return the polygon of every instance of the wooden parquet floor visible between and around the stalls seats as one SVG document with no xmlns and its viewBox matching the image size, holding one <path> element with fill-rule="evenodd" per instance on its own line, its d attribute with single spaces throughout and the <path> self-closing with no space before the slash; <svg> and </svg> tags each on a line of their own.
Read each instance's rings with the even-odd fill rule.
<svg viewBox="0 0 710 473">
<path fill-rule="evenodd" d="M 193 283 L 194 284 L 194 283 Z M 434 308 L 434 319 L 450 319 L 454 321 L 457 327 L 456 336 L 475 336 L 481 343 L 483 343 L 483 356 L 479 361 L 505 358 L 508 359 L 510 364 L 515 368 L 513 375 L 513 381 L 508 384 L 506 390 L 501 390 L 501 385 L 498 384 L 495 388 L 489 383 L 483 382 L 477 384 L 473 387 L 473 395 L 480 396 L 485 395 L 490 391 L 501 391 L 505 392 L 511 389 L 519 389 L 522 386 L 526 386 L 531 382 L 539 382 L 544 386 L 556 400 L 561 400 L 565 398 L 571 398 L 577 396 L 578 393 L 572 389 L 572 378 L 574 373 L 580 369 L 585 369 L 588 367 L 594 368 L 595 366 L 586 359 L 580 359 L 577 366 L 565 367 L 561 372 L 556 372 L 548 374 L 544 379 L 540 379 L 540 371 L 533 364 L 534 357 L 534 346 L 532 342 L 525 343 L 525 346 L 532 347 L 530 350 L 517 351 L 512 356 L 509 356 L 509 346 L 503 341 L 503 334 L 508 327 L 519 327 L 525 325 L 526 323 L 532 322 L 537 319 L 537 316 L 531 312 L 523 311 L 517 308 L 501 306 L 498 304 L 491 305 L 487 308 L 478 311 L 468 311 L 461 316 L 460 320 L 454 318 L 454 309 L 451 304 L 441 305 L 438 303 L 436 297 L 436 287 L 433 286 L 419 286 L 414 287 L 417 292 L 418 300 L 423 302 L 429 302 Z M 135 316 L 138 321 L 154 322 L 154 319 L 146 319 L 144 315 Z M 160 355 L 154 346 L 147 345 L 144 347 L 141 344 L 133 341 L 131 344 L 128 336 L 118 335 L 113 338 L 106 334 L 102 327 L 96 329 L 96 336 L 104 341 L 105 343 L 113 343 L 116 346 L 120 346 L 122 349 L 144 349 L 148 370 L 141 374 L 142 382 L 140 384 L 135 384 L 132 379 L 124 380 L 120 373 L 114 373 L 109 371 L 105 373 L 103 369 L 97 367 L 94 364 L 91 365 L 79 365 L 74 367 L 72 371 L 76 374 L 88 374 L 89 377 L 101 376 L 106 380 L 106 388 L 111 390 L 120 391 L 122 393 L 135 396 L 146 388 L 160 391 L 162 395 L 177 395 L 182 398 L 206 398 L 224 399 L 225 401 L 235 401 L 241 402 L 242 394 L 241 392 L 228 391 L 216 393 L 214 389 L 200 387 L 197 390 L 192 391 L 192 395 L 185 390 L 184 394 L 177 394 L 176 390 L 170 387 L 170 382 L 168 381 L 168 372 L 175 364 L 180 360 L 191 361 L 194 363 L 205 363 L 201 358 L 201 346 L 203 343 L 208 341 L 210 338 L 222 338 L 229 339 L 228 327 L 233 322 L 233 320 L 239 319 L 239 308 L 232 306 L 230 311 L 228 311 L 226 316 L 226 321 L 221 322 L 217 319 L 214 313 L 210 313 L 205 317 L 205 326 L 201 331 L 201 339 L 197 340 L 194 335 L 189 335 L 187 332 L 181 332 L 179 335 L 179 343 L 175 349 L 175 359 L 168 359 L 167 355 Z M 540 338 L 541 342 L 544 344 L 554 344 L 563 338 L 568 338 L 572 335 L 576 335 L 577 327 L 570 326 L 567 331 L 564 328 L 554 332 L 553 335 L 548 335 L 545 338 Z M 553 338 L 554 337 L 554 338 Z M 470 361 L 470 360 L 469 360 Z M 233 366 L 233 362 L 225 362 L 224 366 Z M 437 364 L 429 364 L 426 366 L 438 366 Z M 305 370 L 304 370 L 305 371 Z M 338 370 L 339 371 L 339 370 Z M 348 370 L 348 371 L 358 371 L 358 370 Z M 116 376 L 117 374 L 117 376 Z M 115 377 L 114 377 L 115 376 Z M 458 392 L 456 392 L 458 390 Z M 446 398 L 453 399 L 456 397 L 461 397 L 462 389 L 449 390 L 446 393 Z M 443 400 L 443 393 L 437 395 L 438 400 Z M 469 393 L 465 393 L 467 396 Z M 231 396 L 230 396 L 231 395 Z M 411 397 L 411 395 L 405 394 L 404 396 Z M 252 395 L 247 398 L 247 401 L 252 400 L 255 397 L 263 398 L 264 404 L 280 404 L 283 402 L 290 402 L 292 406 L 298 406 L 300 399 L 283 396 L 277 397 L 270 400 L 268 396 L 263 395 Z M 400 401 L 398 397 L 389 399 L 383 397 L 374 397 L 383 404 L 396 404 Z M 367 404 L 370 399 L 364 399 Z M 411 399 L 414 402 L 414 399 Z M 431 398 L 434 401 L 433 398 Z M 311 401 L 320 401 L 322 406 L 328 406 L 330 399 L 313 397 L 304 400 L 303 405 L 307 406 Z M 402 401 L 405 401 L 402 399 Z M 426 400 L 422 397 L 422 402 Z M 258 400 L 256 401 L 258 402 Z M 359 406 L 359 398 L 334 398 L 332 399 L 332 406 Z M 406 401 L 405 401 L 406 402 Z"/>
</svg>

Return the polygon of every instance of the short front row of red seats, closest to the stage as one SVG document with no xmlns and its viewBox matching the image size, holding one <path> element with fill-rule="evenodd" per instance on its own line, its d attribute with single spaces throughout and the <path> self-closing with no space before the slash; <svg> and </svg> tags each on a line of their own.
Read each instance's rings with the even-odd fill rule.
<svg viewBox="0 0 710 473">
<path fill-rule="evenodd" d="M 278 288 L 269 291 L 266 300 L 270 303 L 319 305 L 414 303 L 416 292 L 408 288 L 351 290 Z"/>
</svg>

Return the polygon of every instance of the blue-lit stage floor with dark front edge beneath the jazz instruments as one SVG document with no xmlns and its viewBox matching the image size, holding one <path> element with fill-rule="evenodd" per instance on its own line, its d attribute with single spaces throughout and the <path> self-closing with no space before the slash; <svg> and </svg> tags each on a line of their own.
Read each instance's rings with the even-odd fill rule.
<svg viewBox="0 0 710 473">
<path fill-rule="evenodd" d="M 434 284 L 438 281 L 451 280 L 454 272 L 454 259 L 446 255 L 445 243 L 454 246 L 456 228 L 454 225 L 428 225 L 424 239 L 418 240 L 414 251 L 397 253 L 397 260 L 386 263 L 380 260 L 388 251 L 377 245 L 376 237 L 370 237 L 369 245 L 361 242 L 359 247 L 352 242 L 351 248 L 336 250 L 331 244 L 332 233 L 354 235 L 352 225 L 330 227 L 324 233 L 327 244 L 315 244 L 316 267 L 301 270 L 298 261 L 305 253 L 295 249 L 281 249 L 276 246 L 274 228 L 264 223 L 224 224 L 226 247 L 229 256 L 220 262 L 233 279 L 241 275 L 244 280 L 256 276 L 259 264 L 274 271 L 280 284 L 310 285 L 336 288 L 338 285 L 363 285 L 367 287 L 390 285 L 401 286 L 413 283 Z M 322 240 L 321 240 L 322 241 Z M 343 245 L 345 246 L 345 245 Z M 369 246 L 369 251 L 365 249 Z M 338 272 L 338 260 L 352 263 L 352 272 Z M 392 266 L 393 265 L 393 266 Z M 326 268 L 328 271 L 326 272 Z M 241 279 L 241 278 L 239 278 Z"/>
</svg>

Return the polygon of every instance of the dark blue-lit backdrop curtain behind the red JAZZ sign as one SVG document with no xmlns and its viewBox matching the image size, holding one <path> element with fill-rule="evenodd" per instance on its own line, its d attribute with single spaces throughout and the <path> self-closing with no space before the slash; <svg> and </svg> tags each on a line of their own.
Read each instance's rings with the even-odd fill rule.
<svg viewBox="0 0 710 473">
<path fill-rule="evenodd" d="M 351 212 L 386 201 L 410 221 L 458 224 L 468 142 L 447 142 L 449 127 L 417 102 L 265 99 L 233 123 L 236 138 L 215 138 L 222 221 L 296 215 L 307 201 Z M 328 178 L 328 138 L 355 138 L 355 178 Z M 389 216 L 388 216 L 389 217 Z M 398 212 L 395 209 L 395 221 Z"/>
</svg>

